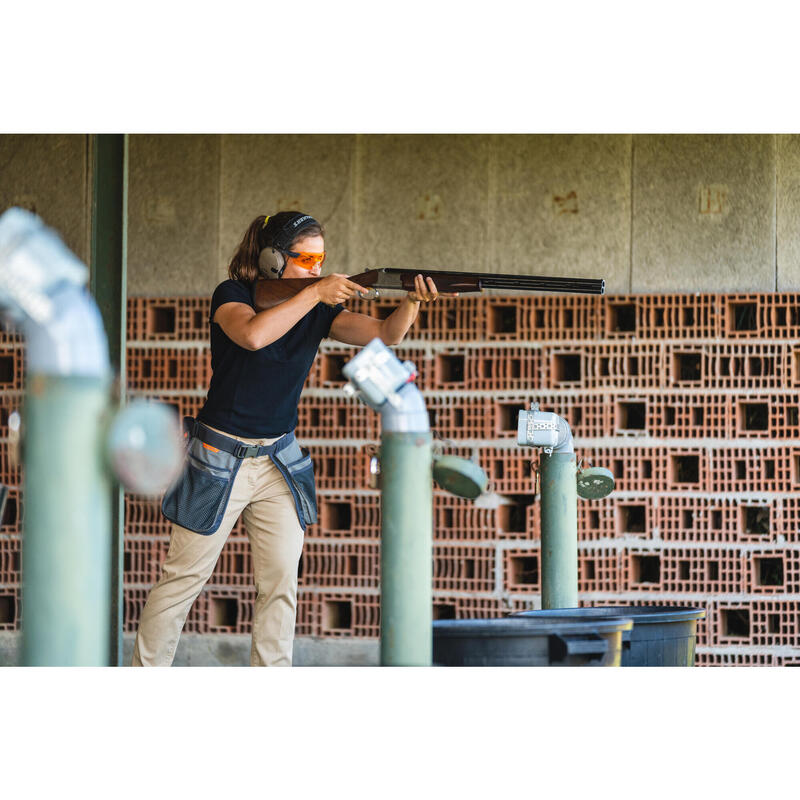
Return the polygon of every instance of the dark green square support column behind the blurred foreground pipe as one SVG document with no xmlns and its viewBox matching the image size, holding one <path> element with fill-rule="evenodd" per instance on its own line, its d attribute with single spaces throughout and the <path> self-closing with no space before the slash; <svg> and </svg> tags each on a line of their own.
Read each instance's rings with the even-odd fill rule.
<svg viewBox="0 0 800 800">
<path fill-rule="evenodd" d="M 128 136 L 92 137 L 92 248 L 89 289 L 108 336 L 108 355 L 118 381 L 115 394 L 125 402 L 127 317 Z M 111 645 L 108 663 L 122 664 L 123 539 L 125 503 L 122 489 L 111 493 Z"/>
</svg>

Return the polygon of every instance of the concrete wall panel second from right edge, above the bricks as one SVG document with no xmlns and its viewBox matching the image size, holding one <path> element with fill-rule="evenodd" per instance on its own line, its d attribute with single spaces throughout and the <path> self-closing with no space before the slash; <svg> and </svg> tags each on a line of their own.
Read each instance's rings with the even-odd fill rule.
<svg viewBox="0 0 800 800">
<path fill-rule="evenodd" d="M 775 288 L 775 137 L 634 137 L 634 292 Z"/>
</svg>

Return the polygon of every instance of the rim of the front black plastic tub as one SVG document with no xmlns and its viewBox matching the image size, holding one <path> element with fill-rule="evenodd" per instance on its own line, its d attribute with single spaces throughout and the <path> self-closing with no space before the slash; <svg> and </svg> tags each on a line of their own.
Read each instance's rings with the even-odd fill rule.
<svg viewBox="0 0 800 800">
<path fill-rule="evenodd" d="M 468 636 L 472 634 L 496 636 L 549 636 L 550 634 L 588 635 L 607 634 L 633 629 L 633 620 L 622 614 L 596 617 L 594 619 L 575 619 L 574 617 L 552 615 L 548 619 L 508 616 L 492 619 L 437 619 L 433 620 L 433 631 L 440 636 Z"/>
</svg>

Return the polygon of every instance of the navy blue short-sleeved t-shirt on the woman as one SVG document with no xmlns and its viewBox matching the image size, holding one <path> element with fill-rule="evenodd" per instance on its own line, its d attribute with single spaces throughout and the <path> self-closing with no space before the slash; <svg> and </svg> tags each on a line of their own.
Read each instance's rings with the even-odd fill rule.
<svg viewBox="0 0 800 800">
<path fill-rule="evenodd" d="M 223 303 L 253 306 L 252 284 L 223 281 L 211 296 L 210 319 Z M 319 343 L 343 306 L 318 303 L 280 339 L 245 350 L 211 322 L 211 384 L 197 418 L 233 436 L 281 436 L 297 425 L 297 404 Z"/>
</svg>

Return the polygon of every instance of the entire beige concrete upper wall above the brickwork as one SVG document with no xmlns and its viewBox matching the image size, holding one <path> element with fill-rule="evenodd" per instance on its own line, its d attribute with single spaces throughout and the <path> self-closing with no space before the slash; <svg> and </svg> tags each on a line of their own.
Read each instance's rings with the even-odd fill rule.
<svg viewBox="0 0 800 800">
<path fill-rule="evenodd" d="M 0 136 L 0 208 L 82 257 L 88 137 Z M 800 288 L 800 136 L 130 137 L 133 295 L 207 294 L 253 217 L 303 209 L 329 269 L 604 277 L 608 291 Z"/>
</svg>

